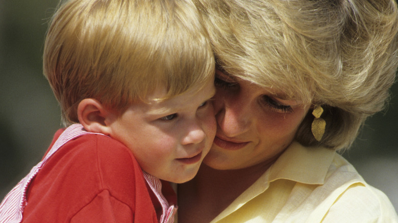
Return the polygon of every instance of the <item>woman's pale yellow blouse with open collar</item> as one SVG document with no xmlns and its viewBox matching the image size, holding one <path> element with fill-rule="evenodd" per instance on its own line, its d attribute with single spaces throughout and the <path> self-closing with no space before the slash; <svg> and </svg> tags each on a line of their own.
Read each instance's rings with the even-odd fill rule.
<svg viewBox="0 0 398 223">
<path fill-rule="evenodd" d="M 293 143 L 215 222 L 398 222 L 388 198 L 335 151 Z"/>
</svg>

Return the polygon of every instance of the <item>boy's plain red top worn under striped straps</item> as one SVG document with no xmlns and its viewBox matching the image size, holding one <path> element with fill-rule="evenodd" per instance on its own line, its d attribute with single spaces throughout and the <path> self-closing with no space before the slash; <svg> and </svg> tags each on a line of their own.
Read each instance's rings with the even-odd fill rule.
<svg viewBox="0 0 398 223">
<path fill-rule="evenodd" d="M 88 134 L 45 163 L 28 188 L 22 222 L 157 222 L 160 204 L 154 207 L 151 197 L 131 151 L 110 137 Z"/>
</svg>

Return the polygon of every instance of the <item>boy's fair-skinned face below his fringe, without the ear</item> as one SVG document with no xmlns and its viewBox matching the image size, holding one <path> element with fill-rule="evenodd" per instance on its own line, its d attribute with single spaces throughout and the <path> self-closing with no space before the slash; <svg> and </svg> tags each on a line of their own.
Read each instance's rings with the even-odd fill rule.
<svg viewBox="0 0 398 223">
<path fill-rule="evenodd" d="M 156 101 L 135 103 L 111 123 L 111 137 L 125 144 L 143 171 L 176 183 L 191 180 L 209 152 L 216 132 L 213 80 L 202 91 Z"/>
</svg>

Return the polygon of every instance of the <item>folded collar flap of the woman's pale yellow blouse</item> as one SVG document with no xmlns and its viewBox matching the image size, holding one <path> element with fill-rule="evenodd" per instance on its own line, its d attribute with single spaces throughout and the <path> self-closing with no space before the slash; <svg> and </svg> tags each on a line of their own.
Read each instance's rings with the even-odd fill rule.
<svg viewBox="0 0 398 223">
<path fill-rule="evenodd" d="M 304 147 L 293 142 L 269 168 L 268 182 L 287 179 L 305 184 L 324 184 L 334 155 L 335 151 L 331 149 Z"/>
</svg>

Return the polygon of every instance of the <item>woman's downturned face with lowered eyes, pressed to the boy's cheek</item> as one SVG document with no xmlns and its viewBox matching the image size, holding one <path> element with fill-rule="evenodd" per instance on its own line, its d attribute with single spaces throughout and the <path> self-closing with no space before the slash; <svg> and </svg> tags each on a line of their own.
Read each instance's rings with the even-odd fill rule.
<svg viewBox="0 0 398 223">
<path fill-rule="evenodd" d="M 290 145 L 308 106 L 216 70 L 217 133 L 204 163 L 217 170 L 269 164 Z"/>
</svg>

